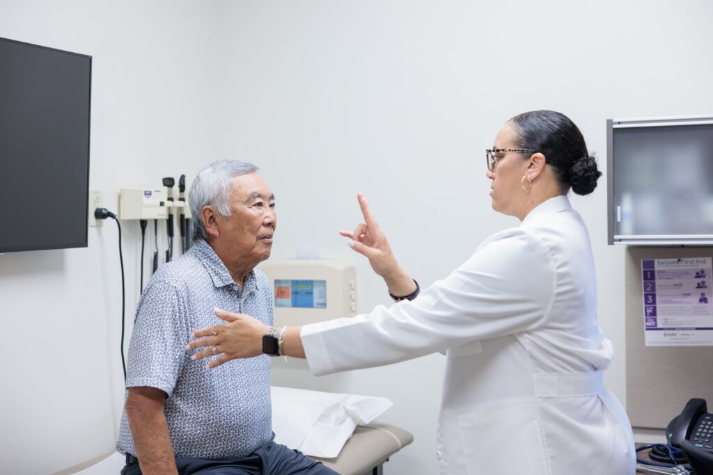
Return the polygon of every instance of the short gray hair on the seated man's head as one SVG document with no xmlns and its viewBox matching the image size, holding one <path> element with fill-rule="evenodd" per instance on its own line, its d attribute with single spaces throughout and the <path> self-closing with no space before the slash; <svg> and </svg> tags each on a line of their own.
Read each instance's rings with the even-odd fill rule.
<svg viewBox="0 0 713 475">
<path fill-rule="evenodd" d="M 195 239 L 205 239 L 205 225 L 200 217 L 200 210 L 212 206 L 222 216 L 230 216 L 230 190 L 232 177 L 257 171 L 252 163 L 238 160 L 218 160 L 198 172 L 198 176 L 190 185 L 188 204 L 192 218 L 191 236 Z"/>
</svg>

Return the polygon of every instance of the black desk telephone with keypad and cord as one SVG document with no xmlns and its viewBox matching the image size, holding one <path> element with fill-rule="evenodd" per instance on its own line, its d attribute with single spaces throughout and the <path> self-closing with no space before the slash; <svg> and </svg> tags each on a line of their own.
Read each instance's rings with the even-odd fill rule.
<svg viewBox="0 0 713 475">
<path fill-rule="evenodd" d="M 705 400 L 689 400 L 666 428 L 667 443 L 682 452 L 659 445 L 649 456 L 665 463 L 689 464 L 696 475 L 713 475 L 713 414 L 707 410 Z"/>
</svg>

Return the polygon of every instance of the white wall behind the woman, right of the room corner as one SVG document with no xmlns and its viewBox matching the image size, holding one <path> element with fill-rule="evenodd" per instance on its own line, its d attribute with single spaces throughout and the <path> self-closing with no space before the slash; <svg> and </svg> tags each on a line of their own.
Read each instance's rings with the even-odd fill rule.
<svg viewBox="0 0 713 475">
<path fill-rule="evenodd" d="M 389 298 L 337 236 L 360 221 L 356 192 L 428 285 L 516 224 L 489 206 L 483 157 L 511 116 L 566 113 L 606 172 L 607 118 L 713 113 L 705 1 L 222 5 L 225 155 L 260 163 L 277 195 L 273 258 L 314 243 L 322 256 L 354 261 L 362 311 Z M 573 203 L 593 239 L 600 323 L 617 350 L 606 384 L 624 402 L 623 251 L 606 244 L 605 177 L 600 184 Z M 442 370 L 431 356 L 300 384 L 391 398 L 381 419 L 416 439 L 387 469 L 432 474 Z M 280 367 L 274 379 L 302 377 Z"/>
</svg>

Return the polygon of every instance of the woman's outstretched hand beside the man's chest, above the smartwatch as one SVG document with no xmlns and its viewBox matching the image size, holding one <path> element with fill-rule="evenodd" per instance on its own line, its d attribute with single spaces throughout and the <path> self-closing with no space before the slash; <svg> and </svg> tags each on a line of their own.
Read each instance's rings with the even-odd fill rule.
<svg viewBox="0 0 713 475">
<path fill-rule="evenodd" d="M 193 360 L 218 356 L 208 363 L 209 368 L 222 365 L 235 358 L 249 358 L 262 355 L 262 337 L 270 327 L 250 315 L 230 313 L 215 309 L 215 315 L 227 323 L 196 330 L 191 335 L 193 340 L 186 345 L 186 350 L 205 348 L 191 357 Z"/>
</svg>

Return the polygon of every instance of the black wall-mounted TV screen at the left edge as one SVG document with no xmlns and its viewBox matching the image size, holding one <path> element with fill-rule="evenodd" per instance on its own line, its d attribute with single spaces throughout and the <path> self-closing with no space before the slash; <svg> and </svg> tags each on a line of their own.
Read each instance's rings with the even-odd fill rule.
<svg viewBox="0 0 713 475">
<path fill-rule="evenodd" d="M 0 38 L 0 253 L 87 246 L 91 56 Z"/>
</svg>

